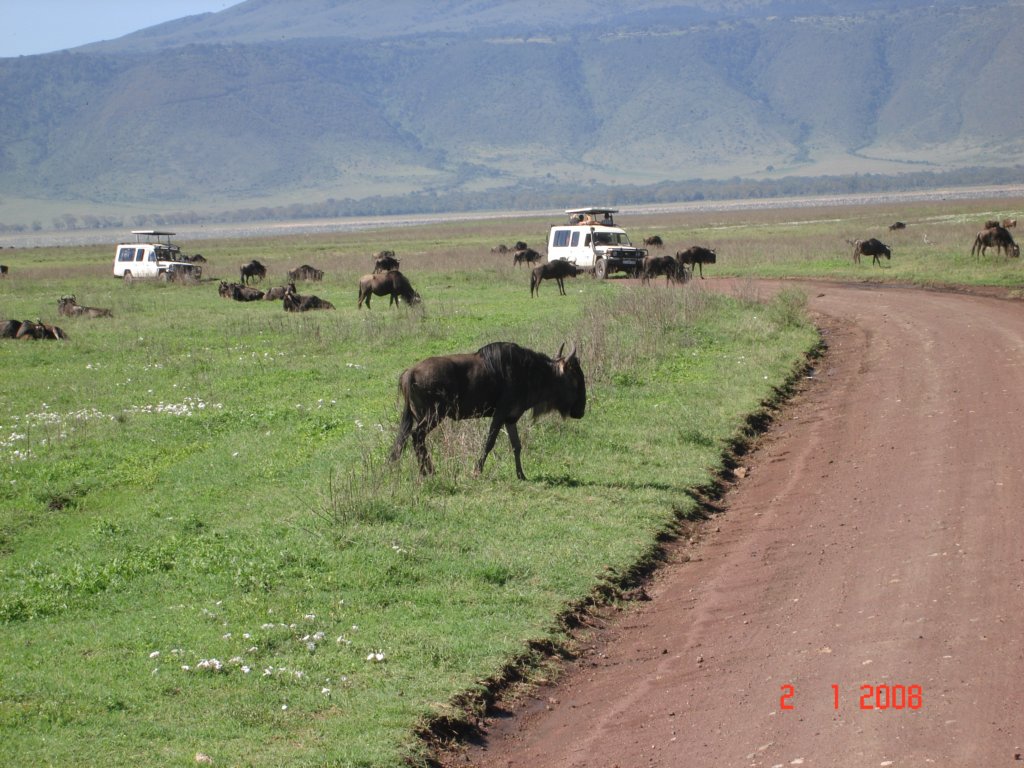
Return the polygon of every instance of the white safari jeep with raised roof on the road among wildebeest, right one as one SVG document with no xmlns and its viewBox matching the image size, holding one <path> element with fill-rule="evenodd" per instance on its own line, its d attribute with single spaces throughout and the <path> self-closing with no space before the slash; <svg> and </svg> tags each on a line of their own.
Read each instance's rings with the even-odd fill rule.
<svg viewBox="0 0 1024 768">
<path fill-rule="evenodd" d="M 568 224 L 553 224 L 548 232 L 548 261 L 572 261 L 592 269 L 604 280 L 614 272 L 637 274 L 643 268 L 647 250 L 630 242 L 626 231 L 615 226 L 613 208 L 570 208 Z"/>
</svg>

